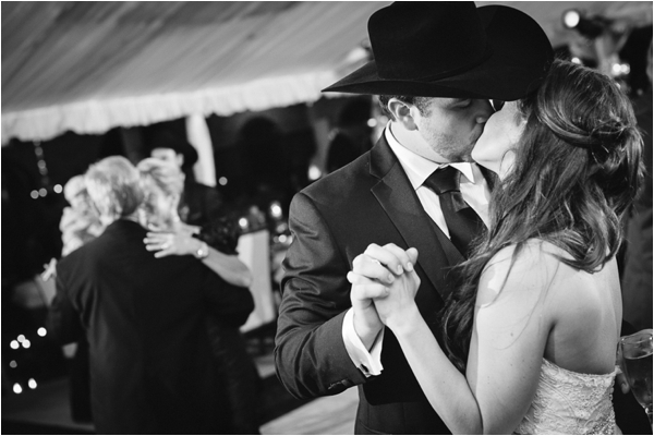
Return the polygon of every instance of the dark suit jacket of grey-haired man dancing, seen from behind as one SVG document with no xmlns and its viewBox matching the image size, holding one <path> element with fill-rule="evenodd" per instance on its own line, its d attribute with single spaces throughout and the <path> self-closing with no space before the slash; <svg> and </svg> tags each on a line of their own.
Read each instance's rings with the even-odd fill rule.
<svg viewBox="0 0 654 436">
<path fill-rule="evenodd" d="M 97 433 L 219 433 L 205 311 L 241 325 L 252 295 L 192 256 L 155 258 L 145 234 L 118 220 L 62 259 L 48 330 L 88 339 Z"/>
</svg>

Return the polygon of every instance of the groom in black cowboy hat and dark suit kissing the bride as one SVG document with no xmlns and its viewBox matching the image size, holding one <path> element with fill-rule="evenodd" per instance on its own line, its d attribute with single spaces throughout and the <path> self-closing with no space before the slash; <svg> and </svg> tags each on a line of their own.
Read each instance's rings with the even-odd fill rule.
<svg viewBox="0 0 654 436">
<path fill-rule="evenodd" d="M 356 385 L 358 434 L 446 434 L 372 301 L 351 302 L 346 276 L 371 243 L 416 247 L 416 301 L 436 334 L 447 271 L 487 215 L 492 181 L 469 161 L 488 99 L 537 88 L 553 50 L 528 15 L 473 2 L 396 2 L 371 16 L 368 34 L 375 60 L 326 90 L 378 95 L 391 121 L 371 152 L 293 198 L 277 374 L 299 398 Z M 432 175 L 441 168 L 448 181 Z"/>
</svg>

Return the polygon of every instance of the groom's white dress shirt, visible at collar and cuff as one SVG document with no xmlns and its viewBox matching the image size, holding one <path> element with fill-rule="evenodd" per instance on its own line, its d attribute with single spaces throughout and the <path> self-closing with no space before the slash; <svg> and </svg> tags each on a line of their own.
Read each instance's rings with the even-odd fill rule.
<svg viewBox="0 0 654 436">
<path fill-rule="evenodd" d="M 438 195 L 424 186 L 423 183 L 438 168 L 451 166 L 459 170 L 463 177 L 460 179 L 461 195 L 465 203 L 477 213 L 482 221 L 488 226 L 488 199 L 491 191 L 476 164 L 457 162 L 457 164 L 436 164 L 415 153 L 404 148 L 392 135 L 392 122 L 389 122 L 384 134 L 390 148 L 397 156 L 402 169 L 409 178 L 409 182 L 415 190 L 420 203 L 427 215 L 436 222 L 443 232 L 449 238 L 449 230 L 445 222 L 445 217 L 440 210 L 440 201 Z M 371 241 L 374 242 L 374 241 Z M 384 329 L 379 332 L 371 350 L 365 346 L 354 330 L 354 312 L 350 308 L 343 318 L 342 326 L 343 342 L 346 350 L 352 360 L 352 363 L 359 367 L 366 377 L 379 375 L 384 367 L 382 366 L 382 341 L 384 339 Z"/>
</svg>

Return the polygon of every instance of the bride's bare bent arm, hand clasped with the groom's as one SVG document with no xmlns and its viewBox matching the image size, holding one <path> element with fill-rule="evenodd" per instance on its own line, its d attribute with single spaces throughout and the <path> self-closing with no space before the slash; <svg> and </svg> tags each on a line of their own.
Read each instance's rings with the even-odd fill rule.
<svg viewBox="0 0 654 436">
<path fill-rule="evenodd" d="M 480 282 L 467 374 L 445 355 L 420 315 L 415 272 L 396 275 L 390 284 L 351 274 L 355 286 L 385 286 L 375 301 L 393 331 L 432 407 L 455 434 L 510 434 L 526 413 L 538 383 L 549 316 L 543 308 L 547 270 L 526 252 L 510 265 L 510 251 L 494 258 Z M 379 258 L 388 270 L 392 261 Z M 399 261 L 398 261 L 399 263 Z M 541 266 L 540 268 L 535 268 Z M 377 283 L 377 284 L 375 284 Z"/>
</svg>

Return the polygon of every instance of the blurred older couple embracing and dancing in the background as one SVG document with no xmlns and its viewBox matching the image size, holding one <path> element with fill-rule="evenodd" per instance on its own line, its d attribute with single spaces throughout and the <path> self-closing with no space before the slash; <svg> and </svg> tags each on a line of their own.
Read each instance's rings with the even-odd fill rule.
<svg viewBox="0 0 654 436">
<path fill-rule="evenodd" d="M 238 229 L 193 202 L 186 215 L 205 225 L 182 222 L 184 178 L 166 159 L 136 169 L 107 158 L 81 182 L 75 194 L 98 215 L 84 222 L 104 232 L 75 233 L 57 266 L 48 329 L 86 343 L 96 431 L 258 433 L 258 375 L 239 331 L 254 306 L 252 275 L 237 257 Z"/>
</svg>

